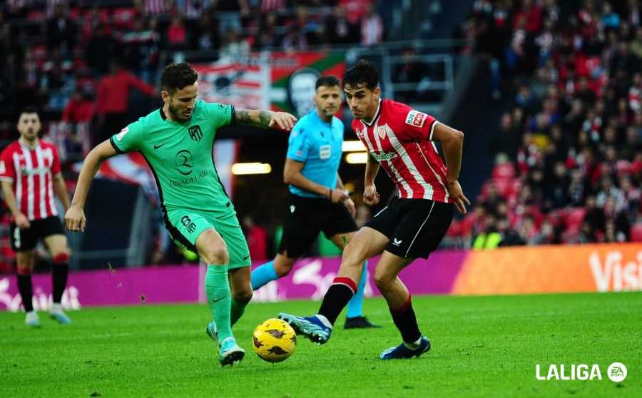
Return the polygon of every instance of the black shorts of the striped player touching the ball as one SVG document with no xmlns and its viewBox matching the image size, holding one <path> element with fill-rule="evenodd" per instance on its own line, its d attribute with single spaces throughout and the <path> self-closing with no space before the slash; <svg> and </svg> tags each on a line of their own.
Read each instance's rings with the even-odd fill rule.
<svg viewBox="0 0 642 398">
<path fill-rule="evenodd" d="M 386 250 L 394 255 L 428 258 L 446 235 L 453 214 L 452 203 L 393 198 L 365 227 L 386 235 Z"/>
</svg>

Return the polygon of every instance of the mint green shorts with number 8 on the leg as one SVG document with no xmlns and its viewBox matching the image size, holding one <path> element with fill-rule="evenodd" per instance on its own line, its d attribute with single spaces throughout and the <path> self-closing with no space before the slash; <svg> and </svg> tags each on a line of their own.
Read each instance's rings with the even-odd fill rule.
<svg viewBox="0 0 642 398">
<path fill-rule="evenodd" d="M 248 242 L 234 213 L 221 216 L 220 213 L 214 215 L 207 211 L 197 213 L 195 210 L 169 210 L 165 226 L 177 245 L 197 254 L 198 235 L 208 228 L 213 228 L 228 245 L 230 269 L 249 267 L 252 263 Z"/>
</svg>

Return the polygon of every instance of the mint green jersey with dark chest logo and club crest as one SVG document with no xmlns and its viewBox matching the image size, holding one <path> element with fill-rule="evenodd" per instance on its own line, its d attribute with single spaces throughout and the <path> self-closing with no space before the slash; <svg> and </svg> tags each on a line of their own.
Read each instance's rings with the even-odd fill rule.
<svg viewBox="0 0 642 398">
<path fill-rule="evenodd" d="M 198 100 L 192 118 L 177 123 L 166 118 L 161 108 L 123 128 L 110 141 L 118 153 L 143 154 L 165 212 L 192 209 L 234 214 L 213 158 L 216 131 L 231 123 L 233 113 L 231 105 Z"/>
</svg>

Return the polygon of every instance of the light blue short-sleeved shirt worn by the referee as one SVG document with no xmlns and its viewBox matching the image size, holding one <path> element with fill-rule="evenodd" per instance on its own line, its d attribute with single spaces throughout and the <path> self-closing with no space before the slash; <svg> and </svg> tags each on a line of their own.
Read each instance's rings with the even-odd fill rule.
<svg viewBox="0 0 642 398">
<path fill-rule="evenodd" d="M 287 142 L 287 158 L 304 163 L 302 175 L 327 188 L 337 186 L 337 170 L 341 162 L 343 122 L 332 116 L 332 121 L 322 121 L 313 108 L 299 119 Z M 290 185 L 290 192 L 306 198 L 322 196 Z"/>
</svg>

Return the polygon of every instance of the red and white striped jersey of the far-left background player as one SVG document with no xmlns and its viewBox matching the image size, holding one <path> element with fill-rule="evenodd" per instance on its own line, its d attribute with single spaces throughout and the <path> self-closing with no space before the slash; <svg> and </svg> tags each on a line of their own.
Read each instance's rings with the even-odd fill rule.
<svg viewBox="0 0 642 398">
<path fill-rule="evenodd" d="M 34 148 L 14 141 L 0 154 L 0 180 L 14 183 L 18 208 L 29 220 L 58 215 L 54 175 L 60 170 L 58 150 L 46 141 Z"/>
</svg>

